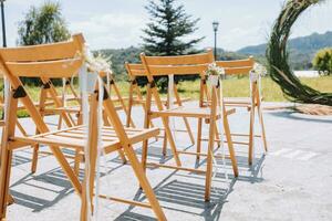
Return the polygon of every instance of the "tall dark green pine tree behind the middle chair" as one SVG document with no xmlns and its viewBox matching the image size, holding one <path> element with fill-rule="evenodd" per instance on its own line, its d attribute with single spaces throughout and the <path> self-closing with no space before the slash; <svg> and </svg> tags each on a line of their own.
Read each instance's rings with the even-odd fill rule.
<svg viewBox="0 0 332 221">
<path fill-rule="evenodd" d="M 145 7 L 151 15 L 144 29 L 144 50 L 149 55 L 180 55 L 193 53 L 195 44 L 204 38 L 185 41 L 183 38 L 194 33 L 199 19 L 186 14 L 184 6 L 176 0 L 149 0 Z"/>
</svg>

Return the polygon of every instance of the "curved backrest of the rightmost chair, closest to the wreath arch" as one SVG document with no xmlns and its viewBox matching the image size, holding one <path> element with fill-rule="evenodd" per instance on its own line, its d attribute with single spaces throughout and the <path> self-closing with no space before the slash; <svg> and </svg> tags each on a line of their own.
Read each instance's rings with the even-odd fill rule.
<svg viewBox="0 0 332 221">
<path fill-rule="evenodd" d="M 216 61 L 216 64 L 225 69 L 226 75 L 249 74 L 253 69 L 255 60 L 249 56 L 243 60 Z"/>
</svg>

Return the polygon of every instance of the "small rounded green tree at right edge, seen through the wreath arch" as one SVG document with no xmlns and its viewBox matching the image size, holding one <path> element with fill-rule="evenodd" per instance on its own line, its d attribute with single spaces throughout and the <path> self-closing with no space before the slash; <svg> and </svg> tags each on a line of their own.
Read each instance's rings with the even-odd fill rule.
<svg viewBox="0 0 332 221">
<path fill-rule="evenodd" d="M 332 48 L 318 51 L 312 60 L 314 69 L 322 75 L 332 74 Z"/>
</svg>

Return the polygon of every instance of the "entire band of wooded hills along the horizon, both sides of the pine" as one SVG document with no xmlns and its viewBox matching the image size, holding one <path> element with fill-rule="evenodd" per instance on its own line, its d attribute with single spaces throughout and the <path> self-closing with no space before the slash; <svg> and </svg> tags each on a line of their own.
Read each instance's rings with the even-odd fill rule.
<svg viewBox="0 0 332 221">
<path fill-rule="evenodd" d="M 313 33 L 308 36 L 301 36 L 289 40 L 290 64 L 295 70 L 308 70 L 311 69 L 312 57 L 315 52 L 320 49 L 332 46 L 332 32 L 326 32 L 324 34 Z M 218 60 L 236 60 L 245 59 L 248 55 L 253 55 L 255 59 L 261 63 L 266 63 L 266 49 L 267 44 L 259 44 L 255 46 L 246 46 L 237 52 L 225 51 L 224 49 L 218 49 Z M 123 78 L 125 75 L 120 75 L 125 73 L 124 63 L 139 62 L 139 53 L 143 52 L 142 48 L 129 46 L 126 49 L 105 49 L 100 50 L 100 53 L 111 56 L 112 69 L 117 77 Z"/>
</svg>

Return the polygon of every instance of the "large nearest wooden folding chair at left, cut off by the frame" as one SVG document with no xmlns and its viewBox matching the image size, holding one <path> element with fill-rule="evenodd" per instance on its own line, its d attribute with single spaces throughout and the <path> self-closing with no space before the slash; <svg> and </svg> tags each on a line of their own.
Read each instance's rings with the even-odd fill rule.
<svg viewBox="0 0 332 221">
<path fill-rule="evenodd" d="M 29 94 L 27 94 L 20 76 L 25 77 L 70 77 L 77 73 L 83 66 L 83 59 L 77 57 L 76 53 L 83 51 L 84 39 L 81 34 L 73 35 L 71 41 L 24 46 L 15 49 L 0 49 L 0 71 L 8 77 L 11 83 L 10 97 L 6 105 L 6 127 L 2 134 L 1 144 L 1 165 L 0 165 L 0 219 L 6 219 L 7 202 L 9 201 L 9 182 L 11 172 L 12 151 L 20 149 L 27 145 L 44 144 L 49 145 L 51 151 L 60 164 L 64 173 L 73 185 L 74 190 L 82 199 L 81 220 L 87 220 L 87 204 L 86 198 L 93 197 L 94 171 L 96 161 L 96 97 L 98 91 L 94 91 L 91 95 L 91 109 L 90 109 L 90 127 L 92 131 L 89 136 L 89 160 L 90 170 L 92 175 L 90 180 L 85 178 L 81 185 L 77 175 L 70 167 L 69 161 L 61 151 L 62 147 L 79 149 L 84 151 L 85 146 L 85 129 L 86 126 L 74 126 L 62 130 L 50 131 L 46 124 L 37 107 L 33 105 Z M 144 141 L 149 137 L 158 134 L 157 128 L 153 129 L 135 129 L 124 128 L 120 117 L 116 113 L 113 102 L 108 98 L 108 93 L 105 91 L 103 101 L 104 110 L 112 123 L 112 127 L 104 126 L 102 129 L 103 149 L 106 154 L 124 150 L 131 166 L 137 177 L 141 187 L 146 193 L 149 203 L 136 202 L 120 198 L 111 198 L 114 201 L 151 208 L 154 210 L 158 220 L 166 220 L 165 214 L 154 194 L 152 187 L 145 176 L 142 164 L 138 161 L 133 145 Z M 18 108 L 18 101 L 22 102 L 31 118 L 33 119 L 40 134 L 31 137 L 15 136 L 15 110 Z M 90 196 L 87 196 L 86 182 L 90 183 Z M 97 196 L 103 197 L 103 196 Z"/>
</svg>

